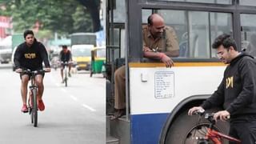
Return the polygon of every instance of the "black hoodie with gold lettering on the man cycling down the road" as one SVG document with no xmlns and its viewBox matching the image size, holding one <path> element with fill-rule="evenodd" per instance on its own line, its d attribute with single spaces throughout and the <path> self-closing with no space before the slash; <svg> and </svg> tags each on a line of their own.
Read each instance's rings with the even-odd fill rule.
<svg viewBox="0 0 256 144">
<path fill-rule="evenodd" d="M 20 44 L 14 54 L 14 64 L 16 69 L 42 70 L 42 62 L 46 67 L 50 67 L 46 47 L 41 42 L 34 40 L 32 46 L 27 46 L 26 42 Z"/>
</svg>

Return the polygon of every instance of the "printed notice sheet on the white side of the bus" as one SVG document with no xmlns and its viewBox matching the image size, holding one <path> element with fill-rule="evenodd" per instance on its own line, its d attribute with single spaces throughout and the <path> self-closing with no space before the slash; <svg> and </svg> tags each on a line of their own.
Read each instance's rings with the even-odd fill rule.
<svg viewBox="0 0 256 144">
<path fill-rule="evenodd" d="M 158 71 L 154 74 L 154 97 L 174 97 L 174 72 Z"/>
</svg>

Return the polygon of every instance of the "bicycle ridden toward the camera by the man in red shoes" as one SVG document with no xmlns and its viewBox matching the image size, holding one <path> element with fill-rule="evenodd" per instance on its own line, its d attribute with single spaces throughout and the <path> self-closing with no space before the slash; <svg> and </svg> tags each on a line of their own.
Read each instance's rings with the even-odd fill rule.
<svg viewBox="0 0 256 144">
<path fill-rule="evenodd" d="M 45 72 L 45 70 L 22 70 L 22 73 L 31 74 L 28 109 L 31 118 L 31 123 L 34 124 L 34 127 L 38 126 L 38 86 L 34 82 L 34 78 L 36 74 L 43 74 Z"/>
</svg>

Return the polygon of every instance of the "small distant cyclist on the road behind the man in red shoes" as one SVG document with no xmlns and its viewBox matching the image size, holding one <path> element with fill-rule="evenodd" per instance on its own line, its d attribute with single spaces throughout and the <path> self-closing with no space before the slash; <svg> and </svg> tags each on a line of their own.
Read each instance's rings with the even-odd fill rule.
<svg viewBox="0 0 256 144">
<path fill-rule="evenodd" d="M 66 45 L 62 46 L 62 50 L 59 54 L 59 61 L 61 62 L 61 75 L 62 75 L 62 83 L 64 83 L 64 78 L 63 78 L 63 69 L 64 69 L 64 63 L 68 62 L 69 64 L 69 77 L 71 77 L 70 70 L 71 70 L 71 62 L 72 62 L 72 55 L 70 50 L 67 49 Z"/>
</svg>

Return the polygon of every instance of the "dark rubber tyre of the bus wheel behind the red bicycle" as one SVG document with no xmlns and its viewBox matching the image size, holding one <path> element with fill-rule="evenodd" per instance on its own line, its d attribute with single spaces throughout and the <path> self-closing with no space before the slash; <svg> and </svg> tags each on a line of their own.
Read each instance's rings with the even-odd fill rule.
<svg viewBox="0 0 256 144">
<path fill-rule="evenodd" d="M 207 113 L 209 112 L 216 112 L 218 109 L 211 109 L 206 110 Z M 194 126 L 198 125 L 198 115 L 189 116 L 187 114 L 188 110 L 184 110 L 181 114 L 175 118 L 174 122 L 170 126 L 167 134 L 165 144 L 172 144 L 172 143 L 180 143 L 180 144 L 194 144 L 197 142 L 190 142 L 187 141 L 187 136 L 190 134 L 190 131 L 193 129 Z M 209 123 L 206 119 L 202 119 L 200 124 L 202 123 Z M 218 130 L 224 134 L 228 134 L 230 125 L 228 122 L 220 122 L 218 121 L 215 125 L 218 127 Z M 226 144 L 226 141 L 224 141 Z"/>
</svg>

